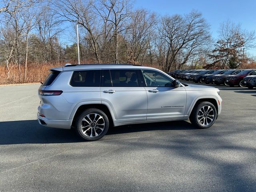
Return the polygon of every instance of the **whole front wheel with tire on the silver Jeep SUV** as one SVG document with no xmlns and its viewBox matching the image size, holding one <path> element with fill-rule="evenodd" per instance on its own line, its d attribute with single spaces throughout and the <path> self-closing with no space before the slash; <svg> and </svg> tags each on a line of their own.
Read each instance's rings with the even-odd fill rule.
<svg viewBox="0 0 256 192">
<path fill-rule="evenodd" d="M 204 101 L 194 107 L 189 119 L 197 128 L 206 129 L 214 124 L 216 117 L 215 106 L 211 102 Z"/>
</svg>

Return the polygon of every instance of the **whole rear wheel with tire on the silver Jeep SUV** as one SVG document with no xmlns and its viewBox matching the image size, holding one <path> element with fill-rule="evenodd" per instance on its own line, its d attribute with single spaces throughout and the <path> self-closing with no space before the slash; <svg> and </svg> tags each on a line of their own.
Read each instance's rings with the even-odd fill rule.
<svg viewBox="0 0 256 192">
<path fill-rule="evenodd" d="M 96 108 L 84 110 L 76 119 L 76 132 L 87 141 L 102 138 L 108 131 L 108 126 L 108 116 L 102 110 Z"/>
</svg>

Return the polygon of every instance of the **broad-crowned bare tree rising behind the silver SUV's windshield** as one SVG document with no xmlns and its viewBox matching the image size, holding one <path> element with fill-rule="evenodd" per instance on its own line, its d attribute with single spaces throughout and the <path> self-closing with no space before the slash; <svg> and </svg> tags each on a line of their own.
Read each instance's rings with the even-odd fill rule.
<svg viewBox="0 0 256 192">
<path fill-rule="evenodd" d="M 156 55 L 162 69 L 168 72 L 173 64 L 178 68 L 202 51 L 210 41 L 209 24 L 202 14 L 192 11 L 184 17 L 164 16 L 158 25 Z"/>
</svg>

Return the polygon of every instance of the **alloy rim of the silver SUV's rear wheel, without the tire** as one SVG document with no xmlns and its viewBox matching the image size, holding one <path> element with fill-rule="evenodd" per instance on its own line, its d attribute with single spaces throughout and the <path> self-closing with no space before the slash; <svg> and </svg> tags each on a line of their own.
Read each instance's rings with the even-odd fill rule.
<svg viewBox="0 0 256 192">
<path fill-rule="evenodd" d="M 105 121 L 100 114 L 90 113 L 82 119 L 80 128 L 85 136 L 96 137 L 102 134 L 105 128 Z"/>
</svg>

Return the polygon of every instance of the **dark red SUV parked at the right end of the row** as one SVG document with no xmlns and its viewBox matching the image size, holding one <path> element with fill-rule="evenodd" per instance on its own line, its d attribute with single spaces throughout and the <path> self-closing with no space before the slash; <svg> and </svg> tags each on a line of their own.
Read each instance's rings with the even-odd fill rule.
<svg viewBox="0 0 256 192">
<path fill-rule="evenodd" d="M 244 77 L 248 75 L 256 75 L 256 69 L 246 69 L 237 75 L 230 75 L 226 77 L 225 84 L 229 86 L 240 86 L 240 87 L 245 87 L 246 85 L 244 84 Z"/>
</svg>

